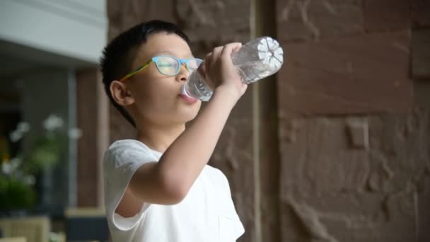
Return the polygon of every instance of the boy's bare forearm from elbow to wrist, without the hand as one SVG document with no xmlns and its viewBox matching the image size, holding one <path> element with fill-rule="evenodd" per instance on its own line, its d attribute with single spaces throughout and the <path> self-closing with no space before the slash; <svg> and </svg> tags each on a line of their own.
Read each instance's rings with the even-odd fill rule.
<svg viewBox="0 0 430 242">
<path fill-rule="evenodd" d="M 171 189 L 185 197 L 192 184 L 209 161 L 228 115 L 237 99 L 232 93 L 214 93 L 207 107 L 193 124 L 170 145 L 158 162 L 158 171 Z"/>
</svg>

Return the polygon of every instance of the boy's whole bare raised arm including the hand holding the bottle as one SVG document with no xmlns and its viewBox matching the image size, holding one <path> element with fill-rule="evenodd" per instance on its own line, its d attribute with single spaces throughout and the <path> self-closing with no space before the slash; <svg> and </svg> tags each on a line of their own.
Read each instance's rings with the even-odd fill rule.
<svg viewBox="0 0 430 242">
<path fill-rule="evenodd" d="M 231 53 L 240 46 L 240 43 L 231 43 L 217 47 L 204 59 L 202 69 L 205 79 L 216 86 L 214 95 L 158 163 L 146 163 L 136 171 L 118 210 L 134 211 L 141 208 L 142 202 L 175 204 L 187 195 L 214 152 L 228 115 L 247 88 L 231 62 Z M 134 203 L 125 203 L 127 198 Z"/>
</svg>

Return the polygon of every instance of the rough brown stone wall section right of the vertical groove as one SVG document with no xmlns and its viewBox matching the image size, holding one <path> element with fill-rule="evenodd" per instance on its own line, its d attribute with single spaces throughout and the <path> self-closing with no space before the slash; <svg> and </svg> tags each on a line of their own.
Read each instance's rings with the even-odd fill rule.
<svg viewBox="0 0 430 242">
<path fill-rule="evenodd" d="M 281 241 L 429 241 L 429 1 L 277 1 Z"/>
</svg>

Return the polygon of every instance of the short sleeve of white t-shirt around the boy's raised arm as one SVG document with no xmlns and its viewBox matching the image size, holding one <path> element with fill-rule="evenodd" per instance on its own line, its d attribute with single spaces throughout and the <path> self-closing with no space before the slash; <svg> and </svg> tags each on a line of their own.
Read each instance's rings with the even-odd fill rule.
<svg viewBox="0 0 430 242">
<path fill-rule="evenodd" d="M 105 207 L 108 222 L 115 229 L 133 229 L 142 219 L 149 204 L 144 204 L 134 217 L 124 218 L 115 214 L 118 204 L 127 190 L 136 170 L 145 163 L 158 161 L 151 150 L 134 140 L 123 140 L 112 144 L 103 159 L 105 182 Z"/>
</svg>

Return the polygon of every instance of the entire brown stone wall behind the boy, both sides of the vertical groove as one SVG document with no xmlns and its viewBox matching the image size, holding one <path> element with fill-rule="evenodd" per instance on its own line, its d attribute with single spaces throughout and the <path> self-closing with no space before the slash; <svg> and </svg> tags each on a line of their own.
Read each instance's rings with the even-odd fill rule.
<svg viewBox="0 0 430 242">
<path fill-rule="evenodd" d="M 108 0 L 109 38 L 153 18 L 203 57 L 275 36 L 286 63 L 233 110 L 211 165 L 239 241 L 430 241 L 428 0 Z M 110 108 L 110 141 L 132 137 Z"/>
</svg>

